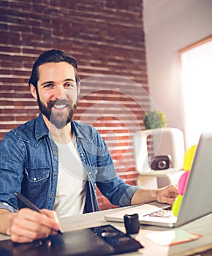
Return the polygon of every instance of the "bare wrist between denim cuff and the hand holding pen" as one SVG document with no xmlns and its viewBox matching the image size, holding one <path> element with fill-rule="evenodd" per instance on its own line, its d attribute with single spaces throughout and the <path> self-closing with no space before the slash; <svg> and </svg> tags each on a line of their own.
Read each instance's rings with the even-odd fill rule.
<svg viewBox="0 0 212 256">
<path fill-rule="evenodd" d="M 10 226 L 14 217 L 15 213 L 3 208 L 0 209 L 0 233 L 10 236 Z"/>
</svg>

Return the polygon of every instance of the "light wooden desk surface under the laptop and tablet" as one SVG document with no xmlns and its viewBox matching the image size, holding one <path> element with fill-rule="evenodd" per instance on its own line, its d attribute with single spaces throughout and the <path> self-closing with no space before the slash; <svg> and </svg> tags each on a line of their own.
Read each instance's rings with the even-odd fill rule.
<svg viewBox="0 0 212 256">
<path fill-rule="evenodd" d="M 131 206 L 129 206 L 131 207 Z M 123 209 L 123 208 L 121 208 Z M 94 227 L 99 225 L 114 225 L 119 230 L 125 232 L 124 223 L 119 222 L 107 222 L 105 221 L 105 214 L 113 213 L 114 211 L 120 211 L 120 208 L 114 208 L 106 211 L 99 211 L 90 214 L 82 214 L 77 215 L 75 217 L 68 217 L 60 219 L 61 227 L 64 231 L 68 230 L 78 230 L 81 228 Z M 198 252 L 203 252 L 205 250 L 212 248 L 212 214 L 209 214 L 206 217 L 202 217 L 201 219 L 197 219 L 194 222 L 190 222 L 189 224 L 183 225 L 182 227 L 178 227 L 178 229 L 183 229 L 189 231 L 191 233 L 201 234 L 202 237 L 195 240 L 190 241 L 184 244 L 178 244 L 175 246 L 160 246 L 158 244 L 154 244 L 150 240 L 146 238 L 147 233 L 151 233 L 159 230 L 173 230 L 165 227 L 154 227 L 154 226 L 140 226 L 140 232 L 136 236 L 136 239 L 140 241 L 145 248 L 140 249 L 137 252 L 127 253 L 124 255 L 129 256 L 185 256 L 185 255 L 194 255 Z M 8 236 L 3 236 L 0 234 L 0 240 L 8 239 Z M 120 255 L 121 256 L 121 255 Z"/>
</svg>

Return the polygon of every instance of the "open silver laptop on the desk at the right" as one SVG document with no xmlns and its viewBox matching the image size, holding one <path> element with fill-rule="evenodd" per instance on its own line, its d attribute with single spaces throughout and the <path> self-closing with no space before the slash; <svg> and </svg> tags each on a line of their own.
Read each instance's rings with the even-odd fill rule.
<svg viewBox="0 0 212 256">
<path fill-rule="evenodd" d="M 107 221 L 124 222 L 125 214 L 139 214 L 140 224 L 162 227 L 179 227 L 194 219 L 212 213 L 212 133 L 205 132 L 200 136 L 194 155 L 186 189 L 178 211 L 178 217 L 173 216 L 171 206 L 148 203 L 141 206 L 119 211 L 105 216 Z M 166 208 L 169 207 L 169 210 Z M 164 208 L 164 210 L 162 210 Z M 158 214 L 165 212 L 169 217 Z"/>
</svg>

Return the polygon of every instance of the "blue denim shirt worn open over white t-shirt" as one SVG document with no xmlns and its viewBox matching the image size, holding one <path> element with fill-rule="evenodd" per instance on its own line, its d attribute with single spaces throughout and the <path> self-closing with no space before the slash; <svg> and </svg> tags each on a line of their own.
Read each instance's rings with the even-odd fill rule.
<svg viewBox="0 0 212 256">
<path fill-rule="evenodd" d="M 99 210 L 96 186 L 110 203 L 129 206 L 139 187 L 129 186 L 117 176 L 99 132 L 76 121 L 72 121 L 72 129 L 88 177 L 84 212 Z M 13 195 L 17 191 L 39 208 L 53 210 L 57 181 L 58 148 L 50 138 L 42 114 L 7 133 L 0 143 L 0 208 L 13 212 L 22 208 Z"/>
</svg>

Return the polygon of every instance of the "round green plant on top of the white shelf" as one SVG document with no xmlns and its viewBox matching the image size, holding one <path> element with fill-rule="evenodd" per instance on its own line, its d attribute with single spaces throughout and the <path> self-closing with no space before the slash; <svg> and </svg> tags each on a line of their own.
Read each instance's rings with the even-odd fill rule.
<svg viewBox="0 0 212 256">
<path fill-rule="evenodd" d="M 167 126 L 167 118 L 162 111 L 150 111 L 143 116 L 143 124 L 145 129 L 162 128 Z"/>
</svg>

